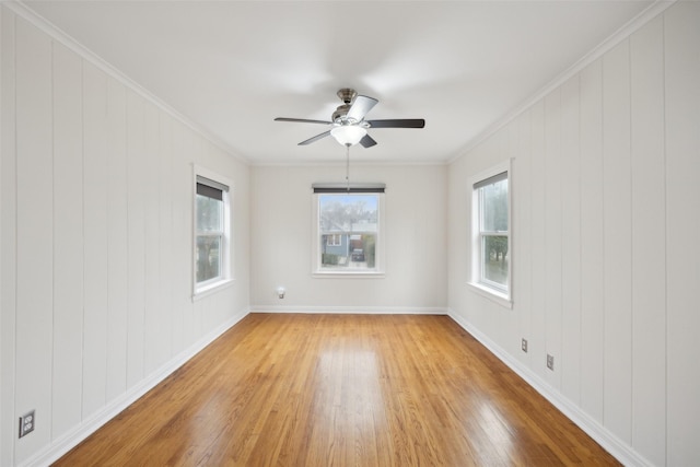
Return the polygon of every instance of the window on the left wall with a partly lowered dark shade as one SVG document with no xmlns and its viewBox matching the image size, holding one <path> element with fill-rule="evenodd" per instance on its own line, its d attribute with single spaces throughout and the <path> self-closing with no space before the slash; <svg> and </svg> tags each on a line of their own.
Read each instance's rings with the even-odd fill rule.
<svg viewBox="0 0 700 467">
<path fill-rule="evenodd" d="M 229 282 L 229 184 L 196 167 L 195 295 Z"/>
</svg>

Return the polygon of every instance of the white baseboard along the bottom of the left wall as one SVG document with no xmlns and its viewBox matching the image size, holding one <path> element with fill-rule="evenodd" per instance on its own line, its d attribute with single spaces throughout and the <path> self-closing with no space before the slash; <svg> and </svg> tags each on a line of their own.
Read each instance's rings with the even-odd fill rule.
<svg viewBox="0 0 700 467">
<path fill-rule="evenodd" d="M 170 376 L 175 370 L 179 369 L 182 365 L 187 363 L 192 357 L 203 350 L 207 346 L 213 342 L 217 338 L 219 338 L 222 334 L 229 330 L 233 325 L 238 323 L 245 316 L 247 316 L 249 310 L 245 308 L 238 312 L 236 315 L 226 319 L 219 327 L 212 329 L 205 337 L 199 339 L 189 348 L 185 349 L 173 359 L 171 359 L 167 363 L 159 367 L 156 371 L 151 373 L 149 376 L 143 378 L 139 384 L 129 388 L 125 394 L 112 400 L 108 405 L 106 405 L 102 410 L 95 412 L 88 419 L 83 420 L 80 424 L 75 425 L 74 429 L 63 434 L 62 436 L 54 440 L 51 444 L 46 446 L 44 450 L 39 451 L 22 464 L 20 466 L 36 466 L 43 467 L 48 466 L 51 463 L 59 459 L 63 454 L 68 453 L 70 450 L 80 444 L 83 440 L 90 436 L 92 433 L 97 431 L 102 425 L 107 423 L 114 417 L 116 417 L 124 409 L 129 407 L 131 404 L 136 402 L 141 396 L 151 390 L 153 387 L 159 385 L 163 380 Z"/>
</svg>

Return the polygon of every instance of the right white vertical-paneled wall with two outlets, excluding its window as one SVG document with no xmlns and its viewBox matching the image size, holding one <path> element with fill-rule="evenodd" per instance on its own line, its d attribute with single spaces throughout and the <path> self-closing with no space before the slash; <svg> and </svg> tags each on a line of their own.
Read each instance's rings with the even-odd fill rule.
<svg viewBox="0 0 700 467">
<path fill-rule="evenodd" d="M 512 311 L 466 284 L 467 180 L 509 157 Z M 451 313 L 632 465 L 700 465 L 699 177 L 700 2 L 450 167 Z"/>
</svg>

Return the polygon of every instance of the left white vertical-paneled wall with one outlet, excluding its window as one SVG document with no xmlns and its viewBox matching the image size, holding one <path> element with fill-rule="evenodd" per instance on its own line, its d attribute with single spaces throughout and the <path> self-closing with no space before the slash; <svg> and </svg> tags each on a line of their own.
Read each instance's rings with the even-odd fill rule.
<svg viewBox="0 0 700 467">
<path fill-rule="evenodd" d="M 42 464 L 247 313 L 249 168 L 4 7 L 0 465 Z M 234 182 L 192 303 L 192 164 Z M 18 417 L 36 430 L 18 440 Z"/>
</svg>

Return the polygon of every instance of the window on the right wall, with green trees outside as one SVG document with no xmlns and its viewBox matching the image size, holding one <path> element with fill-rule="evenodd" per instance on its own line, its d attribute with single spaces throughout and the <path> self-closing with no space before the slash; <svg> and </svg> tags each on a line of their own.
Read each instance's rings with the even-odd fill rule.
<svg viewBox="0 0 700 467">
<path fill-rule="evenodd" d="M 471 283 L 497 299 L 511 300 L 509 165 L 472 180 Z"/>
</svg>

